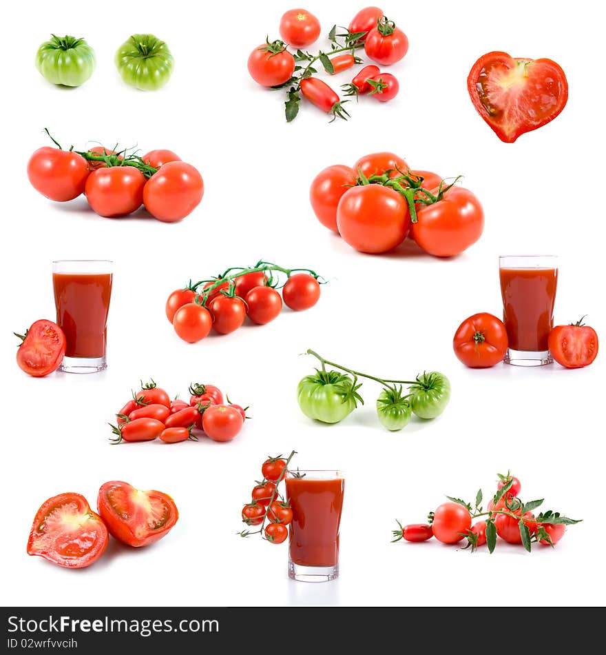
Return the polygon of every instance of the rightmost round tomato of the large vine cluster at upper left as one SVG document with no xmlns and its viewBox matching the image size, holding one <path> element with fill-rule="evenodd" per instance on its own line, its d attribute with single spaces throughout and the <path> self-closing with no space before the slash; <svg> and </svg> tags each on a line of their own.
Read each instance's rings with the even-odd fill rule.
<svg viewBox="0 0 606 655">
<path fill-rule="evenodd" d="M 154 219 L 174 223 L 189 216 L 204 195 L 202 175 L 185 161 L 169 161 L 143 188 L 143 204 Z"/>
</svg>

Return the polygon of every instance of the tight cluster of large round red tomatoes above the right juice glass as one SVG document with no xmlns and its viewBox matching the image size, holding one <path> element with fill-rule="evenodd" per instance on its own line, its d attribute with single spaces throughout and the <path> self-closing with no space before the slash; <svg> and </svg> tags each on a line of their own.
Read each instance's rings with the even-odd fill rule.
<svg viewBox="0 0 606 655">
<path fill-rule="evenodd" d="M 482 205 L 436 173 L 410 170 L 393 152 L 374 152 L 353 168 L 328 166 L 311 183 L 317 219 L 359 252 L 393 250 L 406 236 L 439 257 L 460 254 L 481 236 Z"/>
</svg>

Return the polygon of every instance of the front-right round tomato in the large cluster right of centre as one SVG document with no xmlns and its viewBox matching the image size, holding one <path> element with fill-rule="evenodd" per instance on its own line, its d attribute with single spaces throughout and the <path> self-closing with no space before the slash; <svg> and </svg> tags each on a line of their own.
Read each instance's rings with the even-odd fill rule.
<svg viewBox="0 0 606 655">
<path fill-rule="evenodd" d="M 484 229 L 482 205 L 471 191 L 451 187 L 443 199 L 417 208 L 412 237 L 429 254 L 452 257 L 474 244 Z"/>
</svg>

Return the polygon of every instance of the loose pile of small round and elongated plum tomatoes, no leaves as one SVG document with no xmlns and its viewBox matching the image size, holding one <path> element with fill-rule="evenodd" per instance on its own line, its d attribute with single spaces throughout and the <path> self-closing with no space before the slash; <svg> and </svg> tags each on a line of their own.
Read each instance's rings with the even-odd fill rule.
<svg viewBox="0 0 606 655">
<path fill-rule="evenodd" d="M 153 380 L 141 387 L 116 414 L 113 443 L 158 438 L 164 443 L 198 441 L 194 430 L 204 432 L 213 441 L 231 441 L 247 419 L 248 407 L 230 403 L 229 398 L 225 404 L 221 391 L 211 384 L 190 385 L 189 403 L 178 398 L 171 401 Z"/>
</svg>

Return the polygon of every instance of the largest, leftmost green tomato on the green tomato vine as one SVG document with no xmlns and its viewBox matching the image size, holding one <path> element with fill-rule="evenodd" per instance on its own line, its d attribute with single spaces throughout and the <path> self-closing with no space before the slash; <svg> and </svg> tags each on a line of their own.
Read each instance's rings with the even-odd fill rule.
<svg viewBox="0 0 606 655">
<path fill-rule="evenodd" d="M 300 381 L 297 401 L 301 411 L 310 419 L 322 423 L 339 423 L 364 401 L 357 393 L 362 385 L 338 371 L 317 371 Z"/>
</svg>

